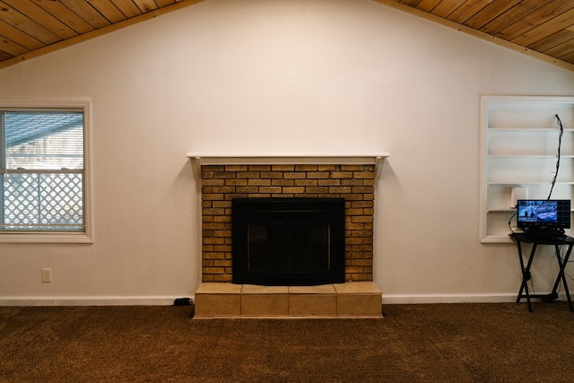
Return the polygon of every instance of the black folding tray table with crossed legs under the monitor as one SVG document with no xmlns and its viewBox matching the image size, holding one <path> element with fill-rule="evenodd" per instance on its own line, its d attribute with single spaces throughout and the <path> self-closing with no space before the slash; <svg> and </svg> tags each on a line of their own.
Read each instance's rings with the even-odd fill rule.
<svg viewBox="0 0 574 383">
<path fill-rule="evenodd" d="M 566 292 L 566 298 L 568 300 L 568 305 L 570 307 L 570 311 L 574 312 L 574 307 L 572 306 L 572 300 L 570 299 L 570 292 L 568 291 L 568 283 L 566 283 L 566 276 L 564 275 L 564 269 L 566 265 L 568 265 L 568 259 L 570 258 L 570 253 L 572 252 L 572 248 L 574 247 L 574 238 L 569 237 L 567 235 L 556 236 L 556 237 L 539 237 L 539 236 L 530 236 L 524 233 L 512 233 L 510 234 L 510 238 L 513 239 L 517 243 L 518 248 L 518 258 L 520 259 L 520 269 L 522 270 L 522 284 L 520 285 L 520 291 L 518 292 L 517 303 L 520 302 L 522 298 L 526 298 L 528 302 L 528 311 L 532 312 L 532 305 L 530 304 L 531 298 L 542 298 L 546 301 L 552 301 L 558 298 L 558 285 L 562 281 L 562 285 L 564 286 L 564 292 Z M 522 247 L 521 243 L 531 243 L 532 250 L 530 251 L 530 257 L 528 257 L 528 261 L 526 266 L 524 265 L 524 259 L 522 257 Z M 552 288 L 552 292 L 550 294 L 531 294 L 528 291 L 528 280 L 530 280 L 530 266 L 532 266 L 532 261 L 535 257 L 536 248 L 538 245 L 550 245 L 554 247 L 556 259 L 558 260 L 558 265 L 560 266 L 560 271 L 558 276 L 556 277 L 556 282 L 554 283 L 554 287 Z M 566 256 L 564 259 L 561 258 L 561 246 L 568 246 L 566 250 Z"/>
</svg>

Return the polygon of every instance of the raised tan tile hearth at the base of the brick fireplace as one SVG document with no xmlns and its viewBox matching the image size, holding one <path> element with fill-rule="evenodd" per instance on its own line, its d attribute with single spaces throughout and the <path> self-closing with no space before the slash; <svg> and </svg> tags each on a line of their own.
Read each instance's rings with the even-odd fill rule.
<svg viewBox="0 0 574 383">
<path fill-rule="evenodd" d="M 382 318 L 372 282 L 317 286 L 202 283 L 194 318 Z"/>
</svg>

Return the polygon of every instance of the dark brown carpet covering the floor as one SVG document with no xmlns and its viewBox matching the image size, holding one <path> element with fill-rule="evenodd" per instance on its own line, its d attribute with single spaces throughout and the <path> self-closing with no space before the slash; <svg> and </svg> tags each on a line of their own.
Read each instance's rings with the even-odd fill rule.
<svg viewBox="0 0 574 383">
<path fill-rule="evenodd" d="M 570 382 L 566 303 L 387 305 L 383 319 L 0 308 L 2 382 Z"/>
</svg>

